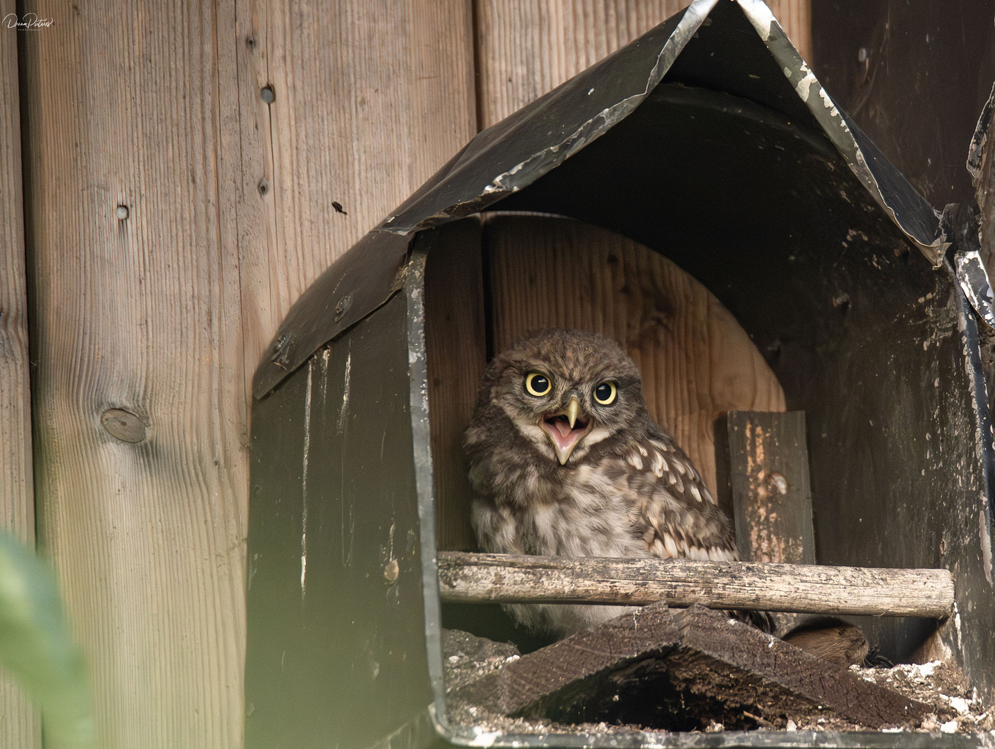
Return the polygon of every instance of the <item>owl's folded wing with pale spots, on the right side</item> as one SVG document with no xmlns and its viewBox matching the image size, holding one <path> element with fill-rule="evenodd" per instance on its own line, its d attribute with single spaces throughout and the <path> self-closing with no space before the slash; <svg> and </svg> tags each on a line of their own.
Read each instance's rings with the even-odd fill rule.
<svg viewBox="0 0 995 749">
<path fill-rule="evenodd" d="M 731 523 L 688 456 L 662 430 L 644 435 L 605 459 L 628 505 L 633 533 L 664 559 L 738 559 Z"/>
</svg>

